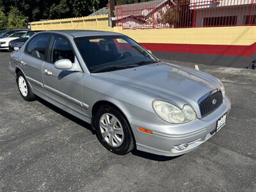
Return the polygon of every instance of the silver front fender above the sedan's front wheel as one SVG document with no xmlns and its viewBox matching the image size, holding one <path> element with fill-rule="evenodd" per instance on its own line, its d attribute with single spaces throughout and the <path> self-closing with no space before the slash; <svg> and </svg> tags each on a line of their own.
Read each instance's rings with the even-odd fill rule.
<svg viewBox="0 0 256 192">
<path fill-rule="evenodd" d="M 84 101 L 88 104 L 88 116 L 92 117 L 93 105 L 98 101 L 108 101 L 117 106 L 127 117 L 130 123 L 136 119 L 150 119 L 150 122 L 161 121 L 152 109 L 152 97 L 136 92 L 122 86 L 122 83 L 111 83 L 94 77 L 84 75 Z"/>
</svg>

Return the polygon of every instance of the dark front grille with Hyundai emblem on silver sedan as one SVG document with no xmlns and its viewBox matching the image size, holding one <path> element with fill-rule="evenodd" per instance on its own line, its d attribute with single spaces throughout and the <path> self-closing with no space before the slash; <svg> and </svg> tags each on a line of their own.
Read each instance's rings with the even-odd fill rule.
<svg viewBox="0 0 256 192">
<path fill-rule="evenodd" d="M 213 100 L 216 99 L 216 103 L 214 104 Z M 223 102 L 222 93 L 220 91 L 212 93 L 208 97 L 206 97 L 199 104 L 200 112 L 202 118 L 215 109 L 217 109 Z"/>
</svg>

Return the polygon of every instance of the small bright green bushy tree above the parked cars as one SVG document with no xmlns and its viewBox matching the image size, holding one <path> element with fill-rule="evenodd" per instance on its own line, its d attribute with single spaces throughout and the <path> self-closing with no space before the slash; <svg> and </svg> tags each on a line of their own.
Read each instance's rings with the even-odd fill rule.
<svg viewBox="0 0 256 192">
<path fill-rule="evenodd" d="M 7 28 L 24 28 L 28 24 L 28 17 L 24 16 L 17 7 L 12 6 L 8 14 Z"/>
</svg>

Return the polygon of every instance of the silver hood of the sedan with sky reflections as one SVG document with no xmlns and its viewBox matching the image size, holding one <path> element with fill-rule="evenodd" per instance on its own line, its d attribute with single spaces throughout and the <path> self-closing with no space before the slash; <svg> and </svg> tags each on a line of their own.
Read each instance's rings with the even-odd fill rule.
<svg viewBox="0 0 256 192">
<path fill-rule="evenodd" d="M 198 108 L 201 97 L 221 88 L 220 81 L 209 74 L 164 62 L 92 74 L 95 75 L 105 81 L 143 92 L 154 99 L 172 102 L 180 108 L 184 104 Z"/>
</svg>

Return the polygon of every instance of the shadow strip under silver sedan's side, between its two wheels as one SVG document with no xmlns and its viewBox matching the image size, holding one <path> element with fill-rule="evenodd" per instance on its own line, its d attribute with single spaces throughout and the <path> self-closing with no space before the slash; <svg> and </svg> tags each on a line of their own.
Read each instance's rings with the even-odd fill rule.
<svg viewBox="0 0 256 192">
<path fill-rule="evenodd" d="M 77 118 L 74 115 L 71 115 L 70 113 L 67 113 L 66 111 L 63 111 L 62 109 L 52 105 L 51 103 L 47 102 L 44 99 L 41 99 L 40 97 L 37 97 L 36 100 L 38 100 L 38 102 L 40 102 L 41 104 L 43 104 L 47 108 L 52 109 L 52 111 L 55 111 L 56 113 L 59 113 L 60 115 L 64 116 L 65 118 L 68 118 L 69 120 L 72 120 L 72 122 L 75 122 L 76 124 L 81 125 L 85 129 L 88 129 L 88 130 L 92 131 L 92 134 L 95 134 L 95 132 L 92 129 L 92 125 L 84 122 L 83 120 Z"/>
</svg>

